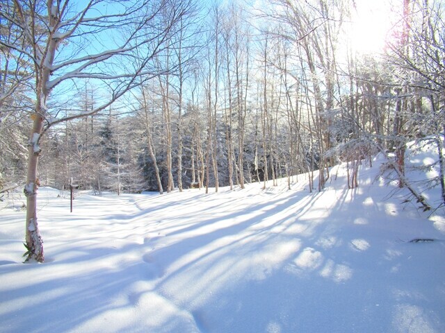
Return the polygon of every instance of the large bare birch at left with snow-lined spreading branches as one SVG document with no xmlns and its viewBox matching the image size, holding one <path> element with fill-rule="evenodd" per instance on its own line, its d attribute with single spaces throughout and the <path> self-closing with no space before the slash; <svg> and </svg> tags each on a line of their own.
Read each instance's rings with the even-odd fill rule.
<svg viewBox="0 0 445 333">
<path fill-rule="evenodd" d="M 2 49 L 21 55 L 33 64 L 33 128 L 29 136 L 26 195 L 26 262 L 44 261 L 42 237 L 37 219 L 38 161 L 42 135 L 56 123 L 95 114 L 108 108 L 140 82 L 137 77 L 158 76 L 152 60 L 187 8 L 181 1 L 90 0 L 83 6 L 70 0 L 7 0 L 0 18 L 23 36 L 21 40 L 0 40 Z M 169 15 L 159 15 L 168 11 Z M 118 34 L 120 29 L 125 33 Z M 113 34 L 115 38 L 108 36 Z M 106 42 L 98 43 L 99 38 Z M 26 46 L 26 47 L 25 47 Z M 81 46 L 81 47 L 79 47 Z M 128 66 L 133 49 L 145 50 L 137 68 Z M 132 55 L 131 55 L 132 56 Z M 92 78 L 111 92 L 111 98 L 93 110 L 72 110 L 65 117 L 49 108 L 57 91 L 75 87 L 77 80 Z M 60 96 L 59 96 L 60 98 Z"/>
</svg>

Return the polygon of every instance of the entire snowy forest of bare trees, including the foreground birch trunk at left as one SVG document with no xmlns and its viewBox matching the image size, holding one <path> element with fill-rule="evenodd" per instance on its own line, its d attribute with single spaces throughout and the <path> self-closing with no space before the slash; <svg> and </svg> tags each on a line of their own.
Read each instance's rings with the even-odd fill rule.
<svg viewBox="0 0 445 333">
<path fill-rule="evenodd" d="M 0 194 L 24 187 L 30 256 L 39 186 L 207 193 L 308 173 L 322 191 L 346 163 L 354 188 L 381 153 L 422 210 L 444 205 L 445 3 L 364 2 L 3 1 Z M 412 140 L 437 146 L 442 203 L 405 177 Z"/>
</svg>

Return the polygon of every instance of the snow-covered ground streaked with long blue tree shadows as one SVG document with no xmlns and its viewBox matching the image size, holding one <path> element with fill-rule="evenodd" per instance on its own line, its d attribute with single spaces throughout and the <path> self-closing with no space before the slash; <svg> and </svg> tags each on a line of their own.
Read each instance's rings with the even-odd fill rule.
<svg viewBox="0 0 445 333">
<path fill-rule="evenodd" d="M 305 176 L 291 190 L 80 191 L 71 214 L 69 194 L 40 188 L 44 264 L 22 264 L 24 198 L 10 196 L 0 332 L 445 332 L 443 208 L 403 203 L 381 163 L 357 189 L 334 167 L 321 193 Z M 439 187 L 425 195 L 438 205 Z"/>
</svg>

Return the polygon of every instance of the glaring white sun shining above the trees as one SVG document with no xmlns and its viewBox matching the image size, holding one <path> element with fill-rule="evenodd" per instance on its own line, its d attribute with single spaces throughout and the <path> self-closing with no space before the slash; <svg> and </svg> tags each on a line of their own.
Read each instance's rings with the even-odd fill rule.
<svg viewBox="0 0 445 333">
<path fill-rule="evenodd" d="M 363 54 L 382 53 L 391 31 L 391 1 L 356 1 L 351 11 L 350 46 Z"/>
</svg>

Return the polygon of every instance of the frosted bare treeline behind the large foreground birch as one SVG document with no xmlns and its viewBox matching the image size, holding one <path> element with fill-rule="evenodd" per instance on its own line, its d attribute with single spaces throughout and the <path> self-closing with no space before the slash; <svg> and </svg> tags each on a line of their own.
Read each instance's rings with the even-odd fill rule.
<svg viewBox="0 0 445 333">
<path fill-rule="evenodd" d="M 92 74 L 76 78 L 70 99 L 63 87 L 47 102 L 45 121 L 65 121 L 45 129 L 40 184 L 218 191 L 282 177 L 290 184 L 309 172 L 311 190 L 320 191 L 339 162 L 348 163 L 348 186 L 357 186 L 358 165 L 380 152 L 403 187 L 406 143 L 425 137 L 435 138 L 443 163 L 442 1 L 394 1 L 387 47 L 373 54 L 348 39 L 354 1 L 271 0 L 262 10 L 189 1 L 182 9 L 175 22 L 162 13 L 170 26 L 152 71 L 140 71 L 114 103 L 97 108 L 107 92 Z M 24 182 L 35 112 L 35 85 L 25 77 L 33 64 L 8 48 L 12 27 L 1 28 L 1 184 Z M 131 49 L 134 67 L 145 68 L 144 52 Z M 444 187 L 443 174 L 437 183 Z"/>
</svg>

